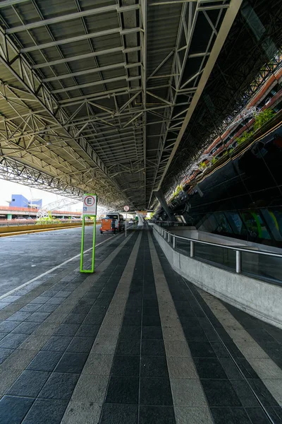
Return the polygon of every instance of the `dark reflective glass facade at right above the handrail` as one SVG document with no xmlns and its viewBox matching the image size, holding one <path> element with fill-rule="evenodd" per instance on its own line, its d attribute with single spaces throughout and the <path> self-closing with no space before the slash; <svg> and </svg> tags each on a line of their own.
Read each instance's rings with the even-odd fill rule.
<svg viewBox="0 0 282 424">
<path fill-rule="evenodd" d="M 282 247 L 281 165 L 282 126 L 276 124 L 207 172 L 173 212 L 198 230 Z"/>
</svg>

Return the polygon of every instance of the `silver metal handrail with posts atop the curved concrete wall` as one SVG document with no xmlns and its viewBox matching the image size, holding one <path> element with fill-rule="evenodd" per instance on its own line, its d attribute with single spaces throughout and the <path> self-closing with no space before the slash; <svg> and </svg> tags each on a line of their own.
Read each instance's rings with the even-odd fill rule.
<svg viewBox="0 0 282 424">
<path fill-rule="evenodd" d="M 236 273 L 240 273 L 241 272 L 241 252 L 247 252 L 247 253 L 255 253 L 255 254 L 262 254 L 264 256 L 268 256 L 268 257 L 276 257 L 276 258 L 281 258 L 282 259 L 282 254 L 278 254 L 278 253 L 271 253 L 271 252 L 264 252 L 261 250 L 251 250 L 251 249 L 245 249 L 243 247 L 233 247 L 233 246 L 226 246 L 226 245 L 219 245 L 219 243 L 213 243 L 213 242 L 204 242 L 202 240 L 196 240 L 196 239 L 192 239 L 190 237 L 183 237 L 182 235 L 176 235 L 173 234 L 172 232 L 165 230 L 163 227 L 161 227 L 160 225 L 154 224 L 154 230 L 159 232 L 159 234 L 164 237 L 164 240 L 167 240 L 167 242 L 171 242 L 172 239 L 172 247 L 173 249 L 176 248 L 176 240 L 180 239 L 180 240 L 186 240 L 188 242 L 190 242 L 190 257 L 193 258 L 194 257 L 194 244 L 195 243 L 200 243 L 201 245 L 209 245 L 209 246 L 214 246 L 214 247 L 221 247 L 223 249 L 229 249 L 229 250 L 235 250 L 235 254 L 236 254 Z"/>
</svg>

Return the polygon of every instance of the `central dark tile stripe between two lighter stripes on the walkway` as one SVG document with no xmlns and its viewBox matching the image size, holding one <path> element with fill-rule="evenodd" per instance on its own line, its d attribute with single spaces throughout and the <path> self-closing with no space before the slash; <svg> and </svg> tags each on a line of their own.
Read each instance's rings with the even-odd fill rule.
<svg viewBox="0 0 282 424">
<path fill-rule="evenodd" d="M 100 420 L 101 424 L 113 422 L 176 423 L 146 232 L 137 255 Z"/>
</svg>

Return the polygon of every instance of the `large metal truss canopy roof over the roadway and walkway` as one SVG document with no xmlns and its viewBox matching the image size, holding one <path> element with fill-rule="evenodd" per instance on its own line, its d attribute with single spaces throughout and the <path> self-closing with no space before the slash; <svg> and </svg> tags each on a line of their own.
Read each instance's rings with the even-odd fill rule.
<svg viewBox="0 0 282 424">
<path fill-rule="evenodd" d="M 241 0 L 0 2 L 0 177 L 147 208 Z"/>
</svg>

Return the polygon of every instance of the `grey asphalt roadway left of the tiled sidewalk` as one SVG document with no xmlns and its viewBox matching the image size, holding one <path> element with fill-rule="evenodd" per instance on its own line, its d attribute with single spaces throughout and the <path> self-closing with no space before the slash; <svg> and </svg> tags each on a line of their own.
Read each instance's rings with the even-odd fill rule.
<svg viewBox="0 0 282 424">
<path fill-rule="evenodd" d="M 97 225 L 96 245 L 113 237 L 100 235 L 99 228 Z M 80 254 L 81 230 L 79 227 L 1 237 L 0 296 Z M 92 231 L 92 226 L 85 227 L 84 251 L 92 247 Z"/>
</svg>

